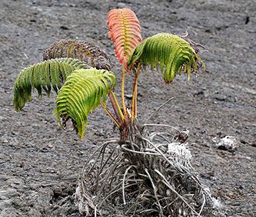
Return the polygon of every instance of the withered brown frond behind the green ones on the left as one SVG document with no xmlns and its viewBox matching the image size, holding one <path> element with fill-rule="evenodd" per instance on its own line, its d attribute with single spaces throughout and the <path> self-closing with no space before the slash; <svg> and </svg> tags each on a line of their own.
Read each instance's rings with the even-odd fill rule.
<svg viewBox="0 0 256 217">
<path fill-rule="evenodd" d="M 91 67 L 111 70 L 111 62 L 108 54 L 95 44 L 86 41 L 60 40 L 55 41 L 45 50 L 44 60 L 52 58 L 74 58 L 85 61 Z"/>
</svg>

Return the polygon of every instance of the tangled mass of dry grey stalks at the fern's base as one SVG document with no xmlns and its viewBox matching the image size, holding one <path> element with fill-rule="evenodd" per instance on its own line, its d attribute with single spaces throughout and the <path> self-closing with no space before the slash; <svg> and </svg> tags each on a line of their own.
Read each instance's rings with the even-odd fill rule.
<svg viewBox="0 0 256 217">
<path fill-rule="evenodd" d="M 201 216 L 214 199 L 191 166 L 188 131 L 131 133 L 104 143 L 85 164 L 76 195 L 80 212 L 96 216 L 106 204 L 125 205 L 125 215 Z M 186 137 L 187 135 L 187 137 Z"/>
</svg>

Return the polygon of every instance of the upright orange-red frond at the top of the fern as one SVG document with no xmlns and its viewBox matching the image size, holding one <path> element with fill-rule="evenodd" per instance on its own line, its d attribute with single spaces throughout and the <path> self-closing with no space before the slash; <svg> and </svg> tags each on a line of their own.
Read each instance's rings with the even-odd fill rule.
<svg viewBox="0 0 256 217">
<path fill-rule="evenodd" d="M 115 54 L 125 69 L 131 51 L 142 41 L 141 25 L 135 13 L 128 8 L 108 12 L 109 38 L 114 41 Z"/>
</svg>

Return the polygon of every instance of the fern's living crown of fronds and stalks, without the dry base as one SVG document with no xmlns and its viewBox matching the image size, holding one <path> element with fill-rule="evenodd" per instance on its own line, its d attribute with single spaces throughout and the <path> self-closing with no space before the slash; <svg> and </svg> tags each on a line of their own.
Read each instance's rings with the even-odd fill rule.
<svg viewBox="0 0 256 217">
<path fill-rule="evenodd" d="M 109 37 L 115 44 L 115 54 L 123 65 L 121 106 L 113 91 L 115 74 L 110 71 L 108 54 L 86 41 L 60 40 L 45 50 L 42 63 L 25 68 L 18 75 L 13 100 L 15 110 L 22 110 L 25 103 L 32 100 L 32 90 L 38 90 L 38 97 L 41 97 L 42 90 L 45 90 L 49 96 L 53 89 L 58 93 L 55 110 L 58 122 L 61 118 L 63 120 L 62 125 L 65 125 L 66 120 L 71 119 L 79 136 L 84 136 L 88 111 L 95 110 L 95 107 L 101 105 L 120 130 L 121 140 L 127 140 L 129 128 L 134 127 L 137 118 L 137 86 L 141 66 L 151 65 L 151 68 L 158 68 L 160 65 L 165 82 L 171 83 L 175 75 L 181 71 L 188 72 L 189 78 L 191 71 L 196 72 L 198 64 L 202 63 L 193 46 L 178 35 L 161 33 L 142 41 L 138 18 L 128 8 L 113 9 L 108 12 L 107 24 Z M 94 67 L 95 70 L 91 71 L 90 67 Z M 81 68 L 85 69 L 83 75 L 74 74 Z M 102 69 L 105 71 L 101 71 Z M 135 71 L 135 82 L 131 107 L 127 108 L 125 74 L 131 70 Z M 81 77 L 87 79 L 81 80 Z M 72 84 L 71 81 L 79 83 L 80 86 Z M 72 85 L 76 87 L 75 90 L 71 88 Z M 83 94 L 85 97 L 82 97 Z M 105 104 L 106 94 L 110 98 L 114 113 L 111 113 Z M 74 97 L 71 99 L 70 95 Z M 91 100 L 94 100 L 93 104 Z M 69 103 L 62 104 L 60 109 L 59 102 L 63 101 Z"/>
</svg>

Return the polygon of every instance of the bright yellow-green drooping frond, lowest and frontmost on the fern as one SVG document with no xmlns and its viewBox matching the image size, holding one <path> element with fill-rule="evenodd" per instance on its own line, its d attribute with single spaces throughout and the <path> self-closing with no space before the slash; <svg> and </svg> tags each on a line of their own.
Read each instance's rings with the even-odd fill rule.
<svg viewBox="0 0 256 217">
<path fill-rule="evenodd" d="M 71 119 L 79 136 L 85 133 L 88 113 L 105 102 L 109 88 L 115 87 L 115 75 L 95 68 L 74 71 L 58 91 L 56 109 L 58 123 Z"/>
</svg>

